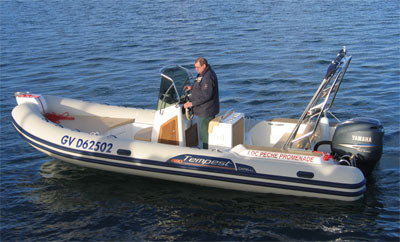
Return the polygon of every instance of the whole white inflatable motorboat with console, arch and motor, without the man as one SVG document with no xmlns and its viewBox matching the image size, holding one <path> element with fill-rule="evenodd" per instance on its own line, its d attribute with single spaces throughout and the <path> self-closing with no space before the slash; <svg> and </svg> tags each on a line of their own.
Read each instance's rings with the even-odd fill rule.
<svg viewBox="0 0 400 242">
<path fill-rule="evenodd" d="M 209 125 L 183 103 L 191 73 L 161 70 L 156 110 L 16 93 L 16 130 L 33 147 L 72 164 L 246 192 L 353 201 L 382 154 L 378 120 L 340 122 L 330 111 L 351 61 L 343 48 L 298 120 L 249 119 L 228 111 Z"/>
</svg>

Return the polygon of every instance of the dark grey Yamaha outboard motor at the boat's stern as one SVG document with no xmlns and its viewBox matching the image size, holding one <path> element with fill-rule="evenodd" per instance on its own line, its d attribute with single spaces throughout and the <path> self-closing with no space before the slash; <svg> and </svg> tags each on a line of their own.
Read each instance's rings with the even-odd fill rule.
<svg viewBox="0 0 400 242">
<path fill-rule="evenodd" d="M 382 155 L 384 129 L 379 120 L 355 118 L 340 123 L 332 138 L 332 154 L 341 165 L 358 167 L 368 176 Z"/>
</svg>

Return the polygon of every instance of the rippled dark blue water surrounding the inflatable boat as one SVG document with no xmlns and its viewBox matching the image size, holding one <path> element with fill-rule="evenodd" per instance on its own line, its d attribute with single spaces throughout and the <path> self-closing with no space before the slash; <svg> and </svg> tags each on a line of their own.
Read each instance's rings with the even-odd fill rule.
<svg viewBox="0 0 400 242">
<path fill-rule="evenodd" d="M 338 240 L 400 237 L 400 2 L 1 1 L 1 241 Z M 27 145 L 16 91 L 155 108 L 158 70 L 208 58 L 222 110 L 298 118 L 337 51 L 333 107 L 374 117 L 384 154 L 352 203 L 96 171 Z"/>
</svg>

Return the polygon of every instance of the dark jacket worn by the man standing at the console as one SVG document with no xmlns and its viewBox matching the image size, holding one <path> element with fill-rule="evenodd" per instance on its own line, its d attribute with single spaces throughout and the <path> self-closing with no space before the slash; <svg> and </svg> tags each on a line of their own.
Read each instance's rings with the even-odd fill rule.
<svg viewBox="0 0 400 242">
<path fill-rule="evenodd" d="M 219 113 L 218 78 L 210 65 L 197 75 L 191 99 L 195 115 L 212 117 Z"/>
</svg>

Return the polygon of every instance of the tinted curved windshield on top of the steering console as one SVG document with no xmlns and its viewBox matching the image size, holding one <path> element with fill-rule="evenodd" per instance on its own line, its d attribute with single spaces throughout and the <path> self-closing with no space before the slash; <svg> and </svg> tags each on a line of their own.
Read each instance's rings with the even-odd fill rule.
<svg viewBox="0 0 400 242">
<path fill-rule="evenodd" d="M 190 85 L 192 74 L 186 68 L 176 65 L 161 69 L 161 84 L 157 110 L 179 103 L 184 87 Z"/>
</svg>

